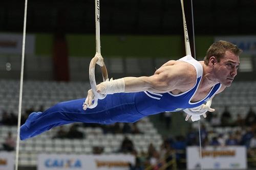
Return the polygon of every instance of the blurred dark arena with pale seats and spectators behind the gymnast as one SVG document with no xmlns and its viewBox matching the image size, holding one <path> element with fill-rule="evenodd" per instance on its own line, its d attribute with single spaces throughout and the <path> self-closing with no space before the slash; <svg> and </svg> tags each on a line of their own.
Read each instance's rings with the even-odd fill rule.
<svg viewBox="0 0 256 170">
<path fill-rule="evenodd" d="M 231 162 L 229 169 L 254 169 L 256 1 L 194 0 L 196 54 L 191 2 L 184 1 L 184 6 L 191 50 L 198 60 L 217 40 L 231 41 L 244 51 L 236 80 L 213 100 L 215 113 L 201 120 L 202 145 L 205 151 L 208 147 L 212 152 L 231 150 L 241 155 L 245 166 Z M 16 142 L 23 18 L 24 1 L 1 2 L 0 150 L 4 156 L 14 153 Z M 150 76 L 164 62 L 185 56 L 179 0 L 101 0 L 100 33 L 101 54 L 114 79 Z M 94 1 L 28 1 L 22 124 L 32 111 L 85 98 L 94 55 Z M 98 68 L 95 76 L 100 82 Z M 198 140 L 198 123 L 185 122 L 183 112 L 152 115 L 135 124 L 77 123 L 21 141 L 19 167 L 40 169 L 37 156 L 44 153 L 132 155 L 133 162 L 116 169 L 200 169 L 200 163 L 193 167 L 188 163 L 192 160 L 188 147 L 198 146 Z M 237 151 L 239 147 L 245 153 Z M 218 161 L 213 160 L 211 169 L 223 169 Z"/>
</svg>

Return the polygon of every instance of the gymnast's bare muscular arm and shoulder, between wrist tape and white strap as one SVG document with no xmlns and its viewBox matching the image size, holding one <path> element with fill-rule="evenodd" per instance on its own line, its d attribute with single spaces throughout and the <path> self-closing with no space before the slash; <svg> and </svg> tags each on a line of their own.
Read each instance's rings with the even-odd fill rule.
<svg viewBox="0 0 256 170">
<path fill-rule="evenodd" d="M 172 61 L 172 63 L 174 63 Z M 150 77 L 125 77 L 124 92 L 151 91 L 164 93 L 175 89 L 190 89 L 193 87 L 196 77 L 187 74 L 188 69 L 194 67 L 187 66 L 186 63 L 166 65 L 156 70 L 155 74 Z"/>
</svg>

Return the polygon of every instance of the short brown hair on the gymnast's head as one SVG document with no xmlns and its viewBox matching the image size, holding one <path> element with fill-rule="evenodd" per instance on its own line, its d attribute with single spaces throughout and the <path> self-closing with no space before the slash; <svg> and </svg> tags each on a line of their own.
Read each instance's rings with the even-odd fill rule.
<svg viewBox="0 0 256 170">
<path fill-rule="evenodd" d="M 208 65 L 209 59 L 212 56 L 216 57 L 217 61 L 220 62 L 220 59 L 224 57 L 226 51 L 231 51 L 236 56 L 239 56 L 243 52 L 237 45 L 228 41 L 219 40 L 213 43 L 207 50 L 206 56 L 204 57 L 204 63 Z"/>
</svg>

